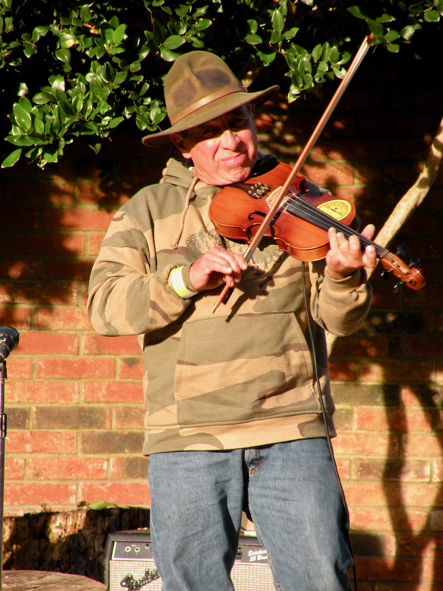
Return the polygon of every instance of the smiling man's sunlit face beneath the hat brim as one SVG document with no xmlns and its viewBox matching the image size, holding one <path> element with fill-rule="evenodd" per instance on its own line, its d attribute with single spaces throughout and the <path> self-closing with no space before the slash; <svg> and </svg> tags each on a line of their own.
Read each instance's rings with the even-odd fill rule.
<svg viewBox="0 0 443 591">
<path fill-rule="evenodd" d="M 185 158 L 194 163 L 194 173 L 208 184 L 223 186 L 249 177 L 258 155 L 252 110 L 241 106 L 216 119 L 188 129 L 171 139 Z"/>
</svg>

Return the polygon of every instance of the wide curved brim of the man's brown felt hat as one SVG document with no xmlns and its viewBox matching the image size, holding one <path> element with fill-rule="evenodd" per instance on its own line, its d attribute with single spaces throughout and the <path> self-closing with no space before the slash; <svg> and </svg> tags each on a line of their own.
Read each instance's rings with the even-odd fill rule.
<svg viewBox="0 0 443 591">
<path fill-rule="evenodd" d="M 278 90 L 279 86 L 270 86 L 266 90 L 260 90 L 259 92 L 232 92 L 196 109 L 196 111 L 180 119 L 180 121 L 170 128 L 160 131 L 157 134 L 146 135 L 142 139 L 142 142 L 148 147 L 167 144 L 167 142 L 171 141 L 171 134 L 177 134 L 186 129 L 191 129 L 196 125 L 211 121 L 211 119 L 233 111 L 233 109 L 242 105 L 247 105 L 247 103 L 255 103 L 256 106 L 262 105 L 266 100 L 271 99 Z"/>
</svg>

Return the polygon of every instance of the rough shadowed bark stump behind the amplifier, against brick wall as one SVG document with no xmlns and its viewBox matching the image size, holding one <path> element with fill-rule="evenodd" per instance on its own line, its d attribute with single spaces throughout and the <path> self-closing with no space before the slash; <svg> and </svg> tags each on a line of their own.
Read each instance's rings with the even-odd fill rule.
<svg viewBox="0 0 443 591">
<path fill-rule="evenodd" d="M 149 527 L 149 509 L 84 508 L 5 517 L 3 568 L 79 574 L 103 582 L 106 537 L 139 527 Z"/>
</svg>

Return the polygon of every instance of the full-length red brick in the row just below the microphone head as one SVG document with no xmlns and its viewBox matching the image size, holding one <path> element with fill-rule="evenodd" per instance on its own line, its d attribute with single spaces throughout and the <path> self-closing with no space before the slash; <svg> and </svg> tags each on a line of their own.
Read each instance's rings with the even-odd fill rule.
<svg viewBox="0 0 443 591">
<path fill-rule="evenodd" d="M 102 378 L 115 377 L 115 362 L 103 358 L 43 357 L 37 359 L 37 378 Z"/>
</svg>

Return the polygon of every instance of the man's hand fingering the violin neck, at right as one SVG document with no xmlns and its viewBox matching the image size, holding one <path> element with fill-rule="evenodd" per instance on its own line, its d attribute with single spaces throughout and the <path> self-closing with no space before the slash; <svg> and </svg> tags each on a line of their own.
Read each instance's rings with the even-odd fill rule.
<svg viewBox="0 0 443 591">
<path fill-rule="evenodd" d="M 374 231 L 374 226 L 369 224 L 361 230 L 361 236 L 371 239 Z M 377 256 L 374 246 L 366 246 L 362 251 L 359 236 L 352 235 L 347 240 L 343 233 L 337 232 L 335 228 L 330 228 L 328 237 L 331 249 L 327 252 L 326 264 L 331 279 L 344 279 L 361 267 L 376 266 Z"/>
</svg>

